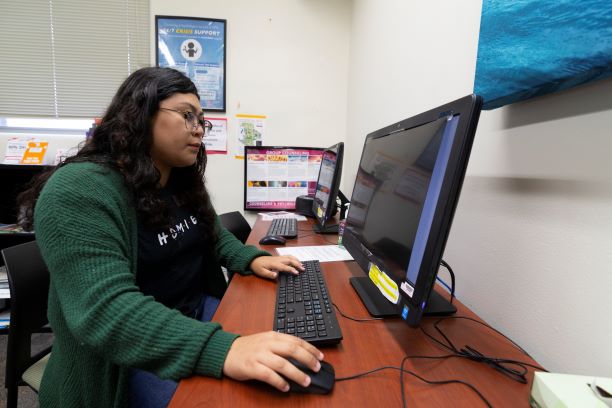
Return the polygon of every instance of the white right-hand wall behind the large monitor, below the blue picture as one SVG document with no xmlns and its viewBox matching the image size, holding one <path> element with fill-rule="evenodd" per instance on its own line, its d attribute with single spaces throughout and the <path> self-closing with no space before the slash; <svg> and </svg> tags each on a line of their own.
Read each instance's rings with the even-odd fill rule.
<svg viewBox="0 0 612 408">
<path fill-rule="evenodd" d="M 472 91 L 480 11 L 353 2 L 343 190 L 368 132 Z M 551 371 L 612 376 L 611 94 L 483 112 L 444 254 L 459 299 Z"/>
</svg>

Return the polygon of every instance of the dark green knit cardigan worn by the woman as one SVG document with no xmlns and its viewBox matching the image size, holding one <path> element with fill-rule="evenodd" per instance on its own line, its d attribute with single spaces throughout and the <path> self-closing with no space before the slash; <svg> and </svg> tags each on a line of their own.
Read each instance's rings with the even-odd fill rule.
<svg viewBox="0 0 612 408">
<path fill-rule="evenodd" d="M 246 274 L 255 257 L 268 255 L 217 225 L 216 252 L 230 273 Z M 126 406 L 129 367 L 174 381 L 221 377 L 238 335 L 185 317 L 136 286 L 136 211 L 118 171 L 93 163 L 57 170 L 36 204 L 34 229 L 51 275 L 55 336 L 41 407 Z"/>
</svg>

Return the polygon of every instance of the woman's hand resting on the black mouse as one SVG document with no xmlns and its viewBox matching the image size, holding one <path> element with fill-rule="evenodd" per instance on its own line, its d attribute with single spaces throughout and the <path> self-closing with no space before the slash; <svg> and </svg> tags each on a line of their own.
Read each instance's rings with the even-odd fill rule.
<svg viewBox="0 0 612 408">
<path fill-rule="evenodd" d="M 270 331 L 238 337 L 227 354 L 223 374 L 240 381 L 263 381 L 285 392 L 289 391 L 285 378 L 308 387 L 310 377 L 287 358 L 298 360 L 318 372 L 323 353 L 312 344 L 289 334 Z"/>
</svg>

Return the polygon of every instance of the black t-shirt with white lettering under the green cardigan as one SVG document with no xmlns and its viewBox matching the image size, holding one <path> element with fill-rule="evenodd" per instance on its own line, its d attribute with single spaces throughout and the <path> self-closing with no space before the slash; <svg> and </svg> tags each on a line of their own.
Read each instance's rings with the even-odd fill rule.
<svg viewBox="0 0 612 408">
<path fill-rule="evenodd" d="M 221 273 L 220 265 L 196 217 L 178 207 L 168 190 L 161 194 L 172 227 L 152 229 L 139 221 L 136 284 L 145 295 L 191 315 L 206 293 L 206 276 Z"/>
</svg>

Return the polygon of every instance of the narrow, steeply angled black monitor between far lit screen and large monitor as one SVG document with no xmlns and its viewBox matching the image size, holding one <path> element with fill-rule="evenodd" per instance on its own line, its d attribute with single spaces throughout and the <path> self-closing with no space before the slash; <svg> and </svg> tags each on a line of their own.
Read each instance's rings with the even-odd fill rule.
<svg viewBox="0 0 612 408">
<path fill-rule="evenodd" d="M 312 213 L 317 222 L 314 230 L 320 234 L 338 233 L 338 223 L 331 222 L 335 209 L 336 199 L 340 191 L 340 178 L 342 175 L 342 161 L 344 157 L 344 143 L 335 144 L 323 152 L 319 178 L 316 183 Z"/>
</svg>

